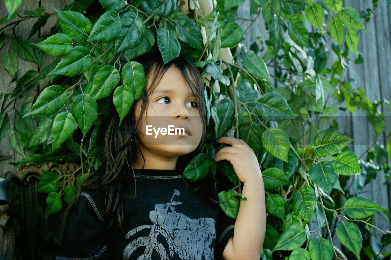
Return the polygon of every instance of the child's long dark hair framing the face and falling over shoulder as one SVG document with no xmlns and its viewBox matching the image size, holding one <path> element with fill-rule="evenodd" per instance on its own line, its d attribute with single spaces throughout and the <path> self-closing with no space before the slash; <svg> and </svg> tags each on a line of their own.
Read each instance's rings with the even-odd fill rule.
<svg viewBox="0 0 391 260">
<path fill-rule="evenodd" d="M 100 189 L 102 194 L 105 194 L 106 214 L 111 218 L 116 216 L 118 224 L 122 228 L 124 202 L 126 201 L 129 203 L 129 200 L 135 198 L 136 194 L 136 178 L 133 163 L 135 162 L 137 151 L 140 151 L 140 154 L 142 155 L 138 144 L 140 140 L 138 140 L 136 130 L 138 129 L 141 115 L 147 107 L 148 95 L 152 93 L 154 87 L 156 87 L 156 85 L 160 82 L 161 77 L 163 77 L 167 69 L 172 66 L 175 66 L 179 69 L 179 71 L 181 71 L 197 99 L 203 126 L 203 134 L 199 145 L 192 153 L 178 158 L 177 169 L 182 173 L 190 160 L 198 153 L 203 152 L 206 139 L 206 105 L 204 99 L 205 86 L 199 69 L 190 59 L 183 55 L 180 55 L 178 58 L 168 62 L 167 64 L 163 64 L 161 54 L 156 48 L 141 55 L 135 59 L 135 61 L 142 64 L 144 68 L 145 77 L 147 78 L 146 85 L 150 86 L 148 89 L 149 93 L 147 93 L 147 87 L 145 87 L 141 98 L 135 100 L 130 112 L 127 114 L 126 118 L 122 120 L 121 126 L 119 126 L 120 118 L 113 104 L 113 93 L 106 98 L 98 100 L 98 107 L 106 105 L 106 108 L 102 111 L 100 120 L 101 123 L 98 128 L 96 139 L 98 150 L 97 157 L 100 161 L 100 167 L 97 171 L 91 173 L 85 180 L 83 180 L 77 189 L 74 199 L 72 199 L 65 210 L 63 227 L 65 226 L 66 215 L 74 203 L 76 203 L 77 208 L 80 193 L 84 189 Z M 136 119 L 135 107 L 138 102 L 142 102 L 141 112 Z M 123 187 L 125 180 L 127 181 L 127 186 Z M 205 185 L 207 181 L 210 181 L 210 174 L 208 174 L 208 178 L 204 178 L 201 182 L 192 182 L 185 178 L 183 178 L 183 180 L 194 192 L 202 192 L 201 194 L 203 196 L 206 196 L 205 194 L 210 194 L 206 186 L 211 186 Z M 134 189 L 133 195 L 129 192 L 129 188 L 130 191 L 133 191 Z"/>
</svg>

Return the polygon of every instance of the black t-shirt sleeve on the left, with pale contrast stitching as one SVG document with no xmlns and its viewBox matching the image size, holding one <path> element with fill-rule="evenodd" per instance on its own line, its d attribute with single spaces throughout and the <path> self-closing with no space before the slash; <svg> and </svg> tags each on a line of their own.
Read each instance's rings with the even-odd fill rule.
<svg viewBox="0 0 391 260">
<path fill-rule="evenodd" d="M 105 241 L 106 220 L 97 192 L 83 191 L 66 216 L 56 260 L 109 259 Z"/>
</svg>

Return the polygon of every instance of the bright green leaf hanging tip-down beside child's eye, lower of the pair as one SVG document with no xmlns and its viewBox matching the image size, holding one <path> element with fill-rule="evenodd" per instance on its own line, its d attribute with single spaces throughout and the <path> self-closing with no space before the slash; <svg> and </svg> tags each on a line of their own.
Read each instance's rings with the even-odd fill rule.
<svg viewBox="0 0 391 260">
<path fill-rule="evenodd" d="M 119 126 L 121 126 L 122 120 L 129 113 L 134 101 L 135 97 L 131 87 L 127 85 L 120 85 L 119 87 L 117 87 L 117 89 L 115 89 L 113 102 L 115 105 L 115 109 L 117 110 L 118 115 L 120 117 Z"/>
</svg>

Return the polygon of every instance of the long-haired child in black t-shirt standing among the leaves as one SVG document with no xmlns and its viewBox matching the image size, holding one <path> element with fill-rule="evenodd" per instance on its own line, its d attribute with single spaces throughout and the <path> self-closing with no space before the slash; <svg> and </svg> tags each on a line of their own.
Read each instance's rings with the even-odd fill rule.
<svg viewBox="0 0 391 260">
<path fill-rule="evenodd" d="M 215 183 L 211 173 L 197 182 L 182 176 L 206 139 L 204 82 L 197 67 L 183 56 L 163 65 L 156 50 L 136 61 L 146 86 L 121 126 L 113 94 L 98 101 L 108 105 L 97 133 L 100 168 L 66 208 L 56 259 L 260 259 L 266 212 L 253 150 L 241 139 L 217 140 L 230 146 L 216 153 L 216 162 L 233 165 L 247 197 L 233 219 L 217 195 L 232 184 Z M 185 133 L 147 130 L 170 125 Z"/>
</svg>

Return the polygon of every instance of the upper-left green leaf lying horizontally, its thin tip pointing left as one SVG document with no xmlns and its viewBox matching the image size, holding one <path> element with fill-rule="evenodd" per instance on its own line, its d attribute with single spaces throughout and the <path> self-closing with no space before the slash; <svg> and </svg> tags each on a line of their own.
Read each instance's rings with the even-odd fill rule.
<svg viewBox="0 0 391 260">
<path fill-rule="evenodd" d="M 72 50 L 72 38 L 67 34 L 54 34 L 40 43 L 30 43 L 52 56 L 63 56 Z"/>
</svg>

